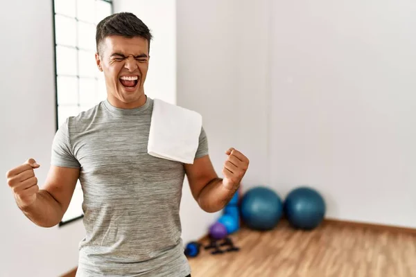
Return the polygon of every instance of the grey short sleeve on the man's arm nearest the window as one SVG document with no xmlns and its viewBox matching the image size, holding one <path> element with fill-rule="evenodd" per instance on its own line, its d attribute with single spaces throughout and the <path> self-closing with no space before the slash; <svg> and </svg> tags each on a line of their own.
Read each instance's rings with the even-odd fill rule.
<svg viewBox="0 0 416 277">
<path fill-rule="evenodd" d="M 64 168 L 80 168 L 80 163 L 72 151 L 68 119 L 59 127 L 53 137 L 51 165 Z"/>
</svg>

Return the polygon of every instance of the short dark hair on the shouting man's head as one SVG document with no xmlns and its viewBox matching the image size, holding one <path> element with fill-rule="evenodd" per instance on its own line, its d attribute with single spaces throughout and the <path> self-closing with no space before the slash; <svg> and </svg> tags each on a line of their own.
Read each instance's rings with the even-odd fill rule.
<svg viewBox="0 0 416 277">
<path fill-rule="evenodd" d="M 105 17 L 97 25 L 96 48 L 100 53 L 100 44 L 105 37 L 110 35 L 121 35 L 123 37 L 143 37 L 148 40 L 150 51 L 150 40 L 153 36 L 146 24 L 131 12 L 119 12 Z"/>
</svg>

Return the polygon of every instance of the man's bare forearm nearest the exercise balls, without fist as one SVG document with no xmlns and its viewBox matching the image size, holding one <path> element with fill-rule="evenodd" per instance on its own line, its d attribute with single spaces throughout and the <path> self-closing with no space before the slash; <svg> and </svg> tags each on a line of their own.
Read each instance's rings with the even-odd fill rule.
<svg viewBox="0 0 416 277">
<path fill-rule="evenodd" d="M 201 190 L 198 204 L 207 213 L 215 213 L 228 204 L 238 189 L 239 185 L 225 188 L 223 179 L 216 178 Z"/>
</svg>

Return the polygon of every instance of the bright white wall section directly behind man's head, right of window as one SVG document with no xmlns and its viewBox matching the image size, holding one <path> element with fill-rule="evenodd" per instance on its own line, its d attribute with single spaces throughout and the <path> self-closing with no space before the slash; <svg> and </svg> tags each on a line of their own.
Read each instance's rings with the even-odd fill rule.
<svg viewBox="0 0 416 277">
<path fill-rule="evenodd" d="M 176 103 L 176 1 L 114 0 L 114 12 L 132 12 L 153 35 L 146 94 Z"/>
</svg>

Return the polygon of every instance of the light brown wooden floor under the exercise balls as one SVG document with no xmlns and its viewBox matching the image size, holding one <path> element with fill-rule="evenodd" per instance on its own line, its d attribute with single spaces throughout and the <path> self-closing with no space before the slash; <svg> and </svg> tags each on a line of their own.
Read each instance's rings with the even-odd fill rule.
<svg viewBox="0 0 416 277">
<path fill-rule="evenodd" d="M 231 238 L 241 250 L 189 258 L 192 277 L 416 277 L 416 235 L 325 222 L 294 231 L 241 229 Z"/>
</svg>

